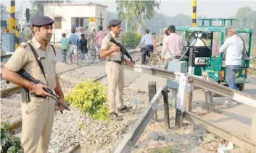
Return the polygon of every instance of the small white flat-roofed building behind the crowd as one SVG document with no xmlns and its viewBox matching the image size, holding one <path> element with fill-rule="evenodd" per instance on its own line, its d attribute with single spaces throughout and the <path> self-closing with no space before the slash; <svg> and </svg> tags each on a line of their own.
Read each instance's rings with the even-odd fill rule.
<svg viewBox="0 0 256 153">
<path fill-rule="evenodd" d="M 102 25 L 107 30 L 107 6 L 102 4 L 44 4 L 44 15 L 54 18 L 54 14 L 55 42 L 60 41 L 63 32 L 67 38 L 70 36 L 73 21 L 76 21 L 76 27 L 88 26 L 90 30 L 97 31 L 99 25 Z M 51 37 L 53 41 L 54 36 Z"/>
</svg>

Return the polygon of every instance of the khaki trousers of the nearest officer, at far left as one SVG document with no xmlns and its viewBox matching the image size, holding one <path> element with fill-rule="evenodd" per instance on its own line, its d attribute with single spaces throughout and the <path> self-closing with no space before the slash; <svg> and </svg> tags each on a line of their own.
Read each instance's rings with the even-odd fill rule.
<svg viewBox="0 0 256 153">
<path fill-rule="evenodd" d="M 54 101 L 30 97 L 21 103 L 22 147 L 25 153 L 46 153 L 49 149 L 54 123 Z"/>
</svg>

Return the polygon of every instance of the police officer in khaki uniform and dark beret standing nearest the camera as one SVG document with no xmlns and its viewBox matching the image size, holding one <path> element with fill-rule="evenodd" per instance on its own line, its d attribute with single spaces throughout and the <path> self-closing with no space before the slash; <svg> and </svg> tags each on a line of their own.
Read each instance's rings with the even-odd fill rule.
<svg viewBox="0 0 256 153">
<path fill-rule="evenodd" d="M 9 82 L 29 89 L 30 101 L 21 103 L 21 141 L 25 153 L 45 153 L 49 149 L 51 130 L 54 123 L 54 100 L 49 98 L 50 95 L 44 91 L 44 88 L 50 88 L 55 91 L 65 105 L 64 95 L 55 71 L 54 48 L 49 43 L 53 23 L 54 20 L 49 17 L 38 16 L 33 18 L 34 36 L 32 40 L 28 41 L 38 53 L 45 77 L 28 43 L 20 44 L 20 47 L 17 48 L 7 64 L 5 64 L 2 72 L 2 77 Z M 20 69 L 24 69 L 43 84 L 34 84 L 23 79 L 16 73 Z M 64 110 L 64 108 L 59 107 L 59 110 Z"/>
</svg>

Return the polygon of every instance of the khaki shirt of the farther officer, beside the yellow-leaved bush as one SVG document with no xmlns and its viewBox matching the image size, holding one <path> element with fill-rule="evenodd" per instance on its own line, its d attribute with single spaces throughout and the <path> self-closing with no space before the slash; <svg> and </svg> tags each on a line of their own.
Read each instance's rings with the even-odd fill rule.
<svg viewBox="0 0 256 153">
<path fill-rule="evenodd" d="M 112 35 L 112 38 L 114 38 L 117 41 L 117 43 L 122 44 L 120 38 L 118 36 L 116 36 L 113 32 L 107 33 L 107 35 Z M 103 38 L 101 49 L 108 50 L 115 46 L 116 46 L 115 43 L 111 43 L 110 39 L 107 36 Z M 119 53 L 114 52 L 114 53 L 110 54 L 110 56 L 107 56 L 107 59 L 121 61 L 121 52 L 119 52 Z"/>
</svg>

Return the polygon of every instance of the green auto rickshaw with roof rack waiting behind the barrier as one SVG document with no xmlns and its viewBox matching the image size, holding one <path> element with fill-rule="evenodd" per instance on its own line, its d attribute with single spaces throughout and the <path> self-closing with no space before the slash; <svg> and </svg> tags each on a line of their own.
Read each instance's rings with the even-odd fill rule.
<svg viewBox="0 0 256 153">
<path fill-rule="evenodd" d="M 185 32 L 184 37 L 188 40 L 187 47 L 183 48 L 183 56 L 179 61 L 186 61 L 186 71 L 197 76 L 204 76 L 211 82 L 228 86 L 226 82 L 225 53 L 216 56 L 213 36 L 217 36 L 219 44 L 222 45 L 224 38 L 227 37 L 227 21 L 232 22 L 236 19 L 201 19 L 202 26 L 198 27 L 177 27 L 177 32 Z M 210 26 L 205 26 L 205 21 L 209 21 Z M 220 21 L 218 26 L 212 26 L 212 22 Z M 242 57 L 241 69 L 236 73 L 236 84 L 240 91 L 244 89 L 244 83 L 247 83 L 247 69 L 249 68 L 249 57 L 251 53 L 253 30 L 249 27 L 236 27 L 236 34 L 244 41 L 245 35 L 249 35 L 248 43 L 244 41 L 244 51 Z M 218 49 L 220 48 L 218 45 Z M 190 55 L 192 54 L 192 55 Z M 193 56 L 191 58 L 191 56 Z M 187 58 L 185 58 L 187 57 Z M 191 64 L 189 64 L 189 62 Z M 168 66 L 169 67 L 169 66 Z M 191 71 L 192 70 L 192 71 Z"/>
</svg>

